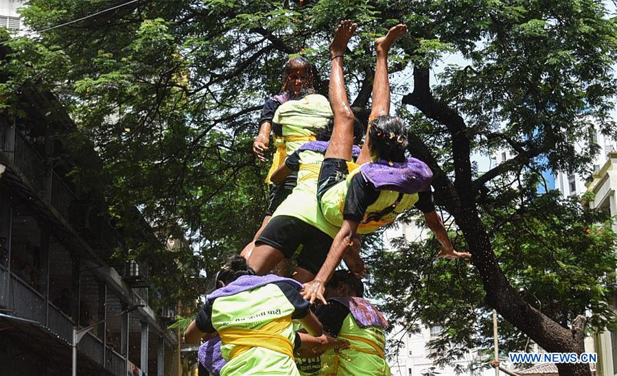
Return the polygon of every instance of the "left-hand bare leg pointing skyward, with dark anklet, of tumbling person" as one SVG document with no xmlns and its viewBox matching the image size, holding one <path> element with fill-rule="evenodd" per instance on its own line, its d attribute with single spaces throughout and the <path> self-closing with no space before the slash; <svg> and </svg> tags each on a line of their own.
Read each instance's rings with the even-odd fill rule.
<svg viewBox="0 0 617 376">
<path fill-rule="evenodd" d="M 353 113 L 345 92 L 345 77 L 342 72 L 343 55 L 347 49 L 349 38 L 356 31 L 358 24 L 349 20 L 341 21 L 334 32 L 334 39 L 330 43 L 330 58 L 332 68 L 328 96 L 334 113 L 334 129 L 330 137 L 325 158 L 342 158 L 351 161 L 353 147 Z"/>
</svg>

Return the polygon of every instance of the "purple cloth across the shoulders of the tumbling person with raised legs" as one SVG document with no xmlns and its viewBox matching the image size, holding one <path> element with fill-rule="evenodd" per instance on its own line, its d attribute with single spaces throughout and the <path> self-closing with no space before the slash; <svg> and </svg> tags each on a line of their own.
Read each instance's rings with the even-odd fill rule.
<svg viewBox="0 0 617 376">
<path fill-rule="evenodd" d="M 360 172 L 377 191 L 408 194 L 425 190 L 433 178 L 428 165 L 416 158 L 408 158 L 403 163 L 380 159 L 377 162 L 364 163 L 360 166 Z"/>
</svg>

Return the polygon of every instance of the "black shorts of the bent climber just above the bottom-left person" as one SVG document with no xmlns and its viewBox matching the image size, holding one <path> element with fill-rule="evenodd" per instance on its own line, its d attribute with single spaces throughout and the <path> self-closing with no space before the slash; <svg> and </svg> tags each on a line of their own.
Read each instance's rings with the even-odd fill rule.
<svg viewBox="0 0 617 376">
<path fill-rule="evenodd" d="M 303 245 L 298 256 L 298 266 L 317 274 L 328 255 L 332 238 L 318 228 L 289 215 L 272 218 L 255 245 L 267 244 L 280 250 L 285 257 L 292 257 Z"/>
</svg>

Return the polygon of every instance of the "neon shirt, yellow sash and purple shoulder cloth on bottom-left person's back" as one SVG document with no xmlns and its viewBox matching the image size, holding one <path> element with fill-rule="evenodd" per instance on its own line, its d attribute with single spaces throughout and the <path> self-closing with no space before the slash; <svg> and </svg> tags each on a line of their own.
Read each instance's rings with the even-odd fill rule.
<svg viewBox="0 0 617 376">
<path fill-rule="evenodd" d="M 262 285 L 268 281 L 272 283 Z M 211 324 L 221 336 L 221 353 L 227 361 L 221 375 L 296 374 L 290 356 L 295 339 L 291 320 L 306 312 L 290 302 L 286 294 L 292 289 L 297 291 L 278 277 L 245 276 L 208 296 Z M 261 342 L 261 331 L 270 333 L 270 343 Z"/>
</svg>

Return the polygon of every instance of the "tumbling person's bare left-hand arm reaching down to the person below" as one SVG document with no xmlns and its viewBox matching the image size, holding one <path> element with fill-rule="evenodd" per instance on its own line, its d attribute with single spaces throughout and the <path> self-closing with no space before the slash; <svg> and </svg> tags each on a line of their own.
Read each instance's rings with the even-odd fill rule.
<svg viewBox="0 0 617 376">
<path fill-rule="evenodd" d="M 323 304 L 327 304 L 323 296 L 325 284 L 334 274 L 334 270 L 345 256 L 348 247 L 353 246 L 358 224 L 355 220 L 343 220 L 321 269 L 312 281 L 305 283 L 304 290 L 300 293 L 307 301 L 314 303 L 316 299 L 319 299 Z"/>
</svg>

